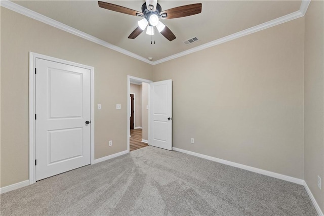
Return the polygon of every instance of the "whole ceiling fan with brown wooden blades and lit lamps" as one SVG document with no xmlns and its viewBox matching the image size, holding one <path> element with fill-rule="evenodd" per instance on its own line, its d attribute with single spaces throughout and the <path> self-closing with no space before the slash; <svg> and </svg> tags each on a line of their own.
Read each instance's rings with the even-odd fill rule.
<svg viewBox="0 0 324 216">
<path fill-rule="evenodd" d="M 159 21 L 159 19 L 173 19 L 201 13 L 201 3 L 184 5 L 162 11 L 161 6 L 157 3 L 157 0 L 146 0 L 146 2 L 142 5 L 142 12 L 106 2 L 99 1 L 98 4 L 100 8 L 143 17 L 143 19 L 138 21 L 138 27 L 135 28 L 135 30 L 128 36 L 130 39 L 135 39 L 145 30 L 145 28 L 147 34 L 153 35 L 155 26 L 158 32 L 160 32 L 168 40 L 172 41 L 176 38 L 176 36 L 167 26 Z"/>
</svg>

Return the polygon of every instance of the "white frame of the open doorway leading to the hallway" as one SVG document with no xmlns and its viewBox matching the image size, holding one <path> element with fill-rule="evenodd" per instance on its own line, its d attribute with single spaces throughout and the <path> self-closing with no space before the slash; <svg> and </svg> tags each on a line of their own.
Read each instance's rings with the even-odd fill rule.
<svg viewBox="0 0 324 216">
<path fill-rule="evenodd" d="M 131 94 L 131 80 L 135 81 L 135 82 L 146 82 L 146 83 L 151 83 L 153 82 L 152 80 L 148 80 L 148 79 L 142 79 L 142 78 L 138 78 L 135 76 L 130 76 L 127 75 L 127 151 L 130 152 L 130 136 L 131 136 L 131 120 L 130 120 L 130 116 L 128 111 L 131 109 L 131 105 L 130 105 L 130 94 Z M 148 89 L 148 100 L 150 98 L 150 91 Z M 148 107 L 149 109 L 149 107 Z M 149 110 L 148 110 L 149 113 Z M 148 115 L 148 143 L 150 143 L 150 115 Z"/>
</svg>

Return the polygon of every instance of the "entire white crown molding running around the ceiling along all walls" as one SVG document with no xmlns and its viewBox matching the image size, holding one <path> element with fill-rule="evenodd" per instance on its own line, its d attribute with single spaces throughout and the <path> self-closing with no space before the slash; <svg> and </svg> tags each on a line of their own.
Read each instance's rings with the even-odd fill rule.
<svg viewBox="0 0 324 216">
<path fill-rule="evenodd" d="M 60 22 L 58 22 L 56 20 L 53 20 L 53 19 L 51 19 L 49 17 L 46 17 L 46 16 L 44 16 L 42 14 L 38 14 L 38 13 L 32 11 L 32 10 L 24 8 L 24 7 L 20 6 L 20 5 L 17 5 L 15 3 L 13 3 L 13 2 L 10 2 L 8 0 L 1 0 L 0 1 L 0 5 L 7 8 L 7 9 L 10 9 L 10 10 L 15 11 L 17 13 L 20 13 L 20 14 L 25 15 L 27 17 L 30 17 L 32 19 L 38 20 L 40 22 L 46 23 L 48 25 L 51 25 L 51 26 L 53 26 L 55 28 L 58 28 L 58 29 L 61 29 L 63 31 L 69 32 L 69 33 L 74 34 L 76 36 L 82 37 L 84 39 L 90 40 L 92 42 L 95 42 L 96 44 L 99 44 L 99 45 L 104 46 L 106 48 L 109 48 L 111 50 L 117 51 L 119 53 L 123 53 L 123 54 L 125 54 L 127 56 L 133 57 L 135 59 L 138 59 L 140 61 L 143 61 L 143 62 L 151 64 L 151 65 L 157 65 L 157 64 L 160 64 L 160 63 L 163 63 L 163 62 L 166 62 L 166 61 L 170 61 L 170 60 L 173 60 L 173 59 L 176 59 L 176 58 L 179 58 L 179 57 L 182 57 L 182 56 L 185 56 L 185 55 L 188 55 L 188 54 L 200 51 L 200 50 L 204 50 L 204 49 L 207 49 L 207 48 L 210 48 L 210 47 L 214 47 L 214 46 L 223 44 L 224 42 L 228 42 L 230 40 L 233 40 L 233 39 L 236 39 L 236 38 L 239 38 L 239 37 L 242 37 L 242 36 L 246 36 L 246 35 L 249 35 L 249 34 L 252 34 L 252 33 L 255 33 L 255 32 L 258 32 L 258 31 L 261 31 L 261 30 L 264 30 L 264 29 L 267 29 L 267 28 L 270 28 L 270 27 L 273 27 L 273 26 L 276 26 L 276 25 L 279 25 L 279 24 L 282 24 L 282 23 L 285 23 L 285 22 L 289 22 L 289 21 L 294 20 L 294 19 L 303 17 L 303 16 L 305 16 L 305 14 L 307 12 L 309 4 L 310 4 L 310 0 L 302 0 L 299 11 L 296 11 L 296 12 L 293 12 L 291 14 L 279 17 L 277 19 L 262 23 L 260 25 L 257 25 L 257 26 L 254 26 L 254 27 L 251 27 L 251 28 L 236 32 L 234 34 L 219 38 L 217 40 L 213 40 L 211 42 L 208 42 L 207 44 L 204 44 L 204 45 L 201 45 L 201 46 L 198 46 L 198 47 L 195 47 L 195 48 L 192 48 L 192 49 L 189 49 L 189 50 L 186 50 L 186 51 L 183 51 L 183 52 L 171 55 L 171 56 L 168 56 L 166 58 L 159 59 L 159 60 L 156 60 L 156 61 L 149 61 L 148 59 L 146 59 L 146 58 L 144 58 L 142 56 L 139 56 L 139 55 L 137 55 L 135 53 L 132 53 L 130 51 L 127 51 L 127 50 L 122 49 L 120 47 L 117 47 L 115 45 L 109 44 L 108 42 L 106 42 L 106 41 L 104 41 L 102 39 L 94 37 L 94 36 L 92 36 L 90 34 L 87 34 L 87 33 L 83 32 L 83 31 L 79 31 L 79 30 L 77 30 L 75 28 L 72 28 L 72 27 L 70 27 L 68 25 L 65 25 L 65 24 L 60 23 Z"/>
</svg>

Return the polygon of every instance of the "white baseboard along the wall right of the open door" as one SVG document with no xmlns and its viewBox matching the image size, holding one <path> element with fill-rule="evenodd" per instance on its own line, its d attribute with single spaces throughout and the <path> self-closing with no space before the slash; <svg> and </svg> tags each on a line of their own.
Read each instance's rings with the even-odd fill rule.
<svg viewBox="0 0 324 216">
<path fill-rule="evenodd" d="M 178 151 L 178 152 L 182 152 L 182 153 L 190 154 L 190 155 L 193 155 L 193 156 L 205 158 L 207 160 L 216 161 L 216 162 L 223 163 L 223 164 L 226 164 L 226 165 L 229 165 L 229 166 L 234 166 L 234 167 L 237 167 L 237 168 L 257 172 L 258 174 L 262 174 L 262 175 L 265 175 L 265 176 L 270 176 L 270 177 L 285 180 L 285 181 L 288 181 L 288 182 L 293 182 L 293 183 L 296 183 L 296 184 L 299 184 L 299 185 L 304 185 L 304 180 L 302 180 L 302 179 L 297 179 L 297 178 L 294 178 L 294 177 L 285 176 L 285 175 L 282 175 L 282 174 L 277 174 L 276 172 L 271 172 L 271 171 L 267 171 L 267 170 L 264 170 L 264 169 L 259 169 L 259 168 L 255 168 L 255 167 L 252 167 L 252 166 L 247 166 L 247 165 L 243 165 L 243 164 L 240 164 L 240 163 L 231 162 L 231 161 L 228 161 L 228 160 L 223 160 L 223 159 L 219 159 L 219 158 L 216 158 L 216 157 L 211 157 L 211 156 L 208 156 L 208 155 L 187 151 L 187 150 L 184 150 L 184 149 L 179 149 L 179 148 L 175 148 L 175 147 L 173 147 L 172 149 L 175 150 L 175 151 Z"/>
</svg>

